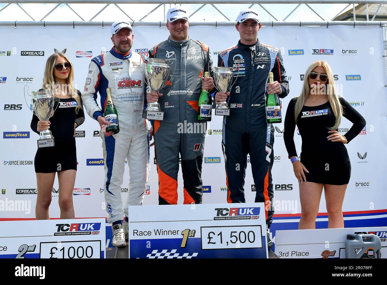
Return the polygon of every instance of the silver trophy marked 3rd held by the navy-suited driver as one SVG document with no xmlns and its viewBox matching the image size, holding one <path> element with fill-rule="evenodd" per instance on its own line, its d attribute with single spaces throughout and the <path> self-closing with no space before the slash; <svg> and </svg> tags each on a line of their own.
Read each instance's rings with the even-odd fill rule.
<svg viewBox="0 0 387 285">
<path fill-rule="evenodd" d="M 233 81 L 233 70 L 231 67 L 214 67 L 214 84 L 216 89 L 226 94 L 227 90 L 231 88 L 231 82 Z M 234 82 L 235 83 L 235 82 Z M 230 109 L 227 105 L 227 102 L 221 102 L 216 106 L 215 115 L 220 116 L 229 116 Z"/>
</svg>

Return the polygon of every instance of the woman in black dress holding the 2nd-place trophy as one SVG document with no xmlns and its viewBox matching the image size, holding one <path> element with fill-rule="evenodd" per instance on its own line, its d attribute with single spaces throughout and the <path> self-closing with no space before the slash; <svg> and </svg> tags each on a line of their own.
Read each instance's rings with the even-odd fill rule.
<svg viewBox="0 0 387 285">
<path fill-rule="evenodd" d="M 34 166 L 38 185 L 36 219 L 50 219 L 48 207 L 51 203 L 55 173 L 58 173 L 60 189 L 60 218 L 75 218 L 72 200 L 77 173 L 75 128 L 84 122 L 85 115 L 81 93 L 74 88 L 73 80 L 73 66 L 64 54 L 55 53 L 47 59 L 43 89 L 53 90 L 56 97 L 54 112 L 49 121 L 39 121 L 34 114 L 31 129 L 39 134 L 50 126 L 55 146 L 38 148 L 35 155 Z"/>
</svg>

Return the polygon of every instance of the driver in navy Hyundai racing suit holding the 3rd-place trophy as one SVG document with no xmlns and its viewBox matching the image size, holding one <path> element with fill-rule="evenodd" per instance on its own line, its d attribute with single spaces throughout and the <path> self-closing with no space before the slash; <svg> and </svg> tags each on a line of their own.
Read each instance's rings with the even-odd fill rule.
<svg viewBox="0 0 387 285">
<path fill-rule="evenodd" d="M 266 121 L 265 98 L 267 94 L 275 93 L 280 98 L 286 97 L 289 83 L 279 49 L 264 45 L 257 39 L 261 28 L 259 12 L 253 9 L 241 11 L 235 27 L 240 33 L 240 41 L 218 55 L 218 66 L 233 67 L 234 76 L 238 76 L 228 100 L 230 116 L 223 118 L 227 202 L 245 202 L 243 185 L 247 154 L 250 154 L 255 202 L 265 203 L 269 228 L 274 214 L 271 205 L 274 127 Z M 268 84 L 269 72 L 274 74 L 271 84 Z M 216 93 L 216 103 L 226 100 L 229 94 Z"/>
</svg>

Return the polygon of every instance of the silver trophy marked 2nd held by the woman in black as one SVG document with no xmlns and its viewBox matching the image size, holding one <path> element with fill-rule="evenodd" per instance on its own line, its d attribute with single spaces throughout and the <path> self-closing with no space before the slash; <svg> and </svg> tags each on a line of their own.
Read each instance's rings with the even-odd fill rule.
<svg viewBox="0 0 387 285">
<path fill-rule="evenodd" d="M 25 93 L 24 93 L 25 94 Z M 27 91 L 28 94 L 28 91 Z M 48 121 L 54 111 L 54 99 L 52 90 L 41 90 L 32 92 L 32 108 L 33 113 L 40 121 Z M 50 129 L 50 127 L 48 127 Z M 55 146 L 54 137 L 50 130 L 40 131 L 38 140 L 38 148 Z"/>
</svg>

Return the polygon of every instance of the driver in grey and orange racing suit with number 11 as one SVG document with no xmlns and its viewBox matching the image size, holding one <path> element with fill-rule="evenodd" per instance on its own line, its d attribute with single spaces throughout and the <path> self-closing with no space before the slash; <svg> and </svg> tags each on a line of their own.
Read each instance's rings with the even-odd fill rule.
<svg viewBox="0 0 387 285">
<path fill-rule="evenodd" d="M 147 92 L 147 102 L 158 101 L 163 121 L 151 130 L 159 176 L 159 204 L 177 204 L 179 152 L 182 158 L 184 204 L 202 202 L 202 161 L 205 122 L 198 121 L 201 88 L 214 89 L 209 48 L 188 37 L 188 12 L 182 6 L 168 10 L 170 36 L 149 51 L 150 58 L 167 59 L 170 75 L 161 93 Z M 173 73 L 176 65 L 176 70 Z M 202 78 L 205 71 L 209 78 Z"/>
</svg>

